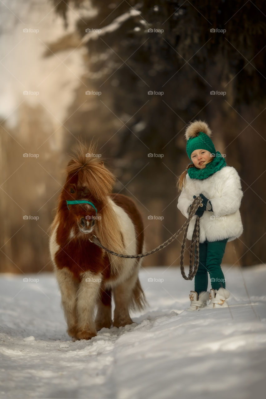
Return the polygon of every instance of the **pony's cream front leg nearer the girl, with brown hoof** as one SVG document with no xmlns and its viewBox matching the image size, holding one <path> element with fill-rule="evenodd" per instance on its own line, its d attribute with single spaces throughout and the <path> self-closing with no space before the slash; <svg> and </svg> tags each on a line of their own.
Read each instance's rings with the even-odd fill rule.
<svg viewBox="0 0 266 399">
<path fill-rule="evenodd" d="M 100 295 L 101 275 L 82 273 L 76 296 L 78 340 L 89 340 L 97 335 L 94 310 Z"/>
</svg>

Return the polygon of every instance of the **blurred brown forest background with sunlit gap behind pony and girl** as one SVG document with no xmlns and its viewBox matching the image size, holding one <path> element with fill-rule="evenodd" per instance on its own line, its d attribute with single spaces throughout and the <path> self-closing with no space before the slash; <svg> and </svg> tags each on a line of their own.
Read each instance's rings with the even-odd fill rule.
<svg viewBox="0 0 266 399">
<path fill-rule="evenodd" d="M 223 263 L 265 262 L 265 1 L 3 0 L 0 12 L 0 271 L 51 270 L 48 226 L 80 138 L 98 140 L 115 192 L 137 203 L 147 249 L 169 238 L 185 221 L 176 182 L 194 119 L 242 182 L 244 233 Z M 144 265 L 179 265 L 181 239 Z"/>
</svg>

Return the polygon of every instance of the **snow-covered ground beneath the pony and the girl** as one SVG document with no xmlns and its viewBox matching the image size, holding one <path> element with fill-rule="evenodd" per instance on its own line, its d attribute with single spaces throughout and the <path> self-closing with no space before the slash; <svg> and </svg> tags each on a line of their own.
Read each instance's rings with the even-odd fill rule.
<svg viewBox="0 0 266 399">
<path fill-rule="evenodd" d="M 187 312 L 193 281 L 176 268 L 142 269 L 150 307 L 130 326 L 76 342 L 66 334 L 52 274 L 1 275 L 0 397 L 264 396 L 266 267 L 223 270 L 229 308 Z"/>
</svg>

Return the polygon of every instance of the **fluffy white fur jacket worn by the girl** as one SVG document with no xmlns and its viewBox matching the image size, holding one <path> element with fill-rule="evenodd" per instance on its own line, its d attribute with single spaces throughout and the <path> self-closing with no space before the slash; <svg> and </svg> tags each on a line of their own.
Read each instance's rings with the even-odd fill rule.
<svg viewBox="0 0 266 399">
<path fill-rule="evenodd" d="M 179 196 L 177 207 L 185 217 L 188 217 L 188 207 L 193 202 L 193 196 L 202 193 L 210 200 L 213 211 L 204 211 L 200 217 L 200 243 L 206 239 L 210 242 L 228 238 L 232 241 L 243 232 L 239 212 L 243 192 L 240 177 L 232 166 L 215 172 L 206 179 L 191 179 L 186 175 L 185 187 Z M 195 226 L 196 215 L 189 223 L 187 239 L 191 240 Z"/>
</svg>

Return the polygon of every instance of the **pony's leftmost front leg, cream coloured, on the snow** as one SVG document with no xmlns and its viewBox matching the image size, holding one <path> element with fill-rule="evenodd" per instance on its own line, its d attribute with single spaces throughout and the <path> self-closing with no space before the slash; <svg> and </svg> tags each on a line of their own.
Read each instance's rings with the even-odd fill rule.
<svg viewBox="0 0 266 399">
<path fill-rule="evenodd" d="M 55 269 L 56 279 L 61 291 L 62 307 L 67 322 L 67 333 L 69 336 L 76 335 L 77 317 L 75 312 L 75 297 L 79 287 L 79 282 L 73 279 L 73 274 L 64 267 Z"/>
</svg>

